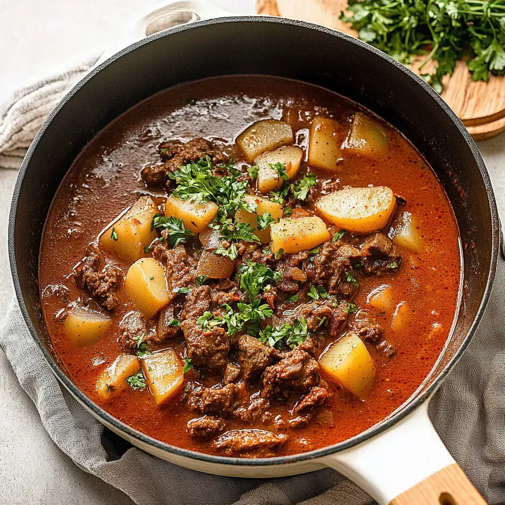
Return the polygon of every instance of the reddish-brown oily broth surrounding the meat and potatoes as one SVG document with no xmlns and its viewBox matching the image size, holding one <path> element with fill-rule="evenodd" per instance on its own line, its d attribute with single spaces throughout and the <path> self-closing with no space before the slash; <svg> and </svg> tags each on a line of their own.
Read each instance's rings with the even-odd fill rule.
<svg viewBox="0 0 505 505">
<path fill-rule="evenodd" d="M 62 324 L 54 317 L 66 304 L 44 288 L 65 284 L 70 301 L 83 296 L 69 277 L 72 268 L 84 256 L 86 245 L 134 203 L 138 197 L 136 191 L 145 189 L 139 172 L 146 163 L 158 160 L 161 139 L 186 141 L 202 136 L 232 141 L 254 121 L 283 118 L 292 124 L 293 132 L 299 131 L 295 138 L 304 145 L 309 121 L 315 112 L 328 114 L 324 108 L 345 130 L 348 118 L 358 107 L 335 93 L 295 81 L 264 76 L 207 79 L 166 90 L 131 109 L 100 132 L 75 161 L 47 218 L 39 269 L 42 307 L 56 354 L 69 377 L 110 414 L 169 444 L 212 452 L 209 443 L 194 441 L 187 435 L 186 422 L 196 416 L 185 409 L 180 395 L 169 405 L 156 408 L 147 390 L 127 388 L 108 402 L 95 394 L 97 375 L 119 354 L 119 322 L 125 313 L 133 310 L 124 290 L 117 291 L 120 304 L 111 315 L 111 329 L 95 344 L 77 348 L 65 338 Z M 375 346 L 367 344 L 377 365 L 377 377 L 372 393 L 364 401 L 343 391 L 322 374 L 333 393 L 324 409 L 331 412 L 333 424 L 313 422 L 307 428 L 288 430 L 289 441 L 278 455 L 345 440 L 390 415 L 429 374 L 452 324 L 460 280 L 455 217 L 442 186 L 426 162 L 405 138 L 390 126 L 386 127 L 391 138 L 389 156 L 375 162 L 356 156 L 344 157 L 338 188 L 367 184 L 389 186 L 407 200 L 405 210 L 420 222 L 427 245 L 425 250 L 413 254 L 401 249 L 403 263 L 399 271 L 387 277 L 362 279 L 355 298 L 358 307 L 371 310 L 384 335 L 397 346 L 398 354 L 387 360 Z M 130 263 L 110 254 L 107 258 L 126 274 Z M 393 287 L 394 300 L 391 310 L 379 312 L 367 306 L 366 300 L 367 294 L 383 283 Z M 414 308 L 414 314 L 405 331 L 394 333 L 390 330 L 391 316 L 400 301 L 407 301 Z M 434 323 L 442 325 L 442 331 L 431 331 Z M 182 351 L 183 339 L 164 345 L 172 346 Z M 191 379 L 201 380 L 193 370 L 185 374 L 185 380 Z M 207 379 L 207 382 L 211 385 L 215 380 Z M 275 416 L 282 410 L 274 408 L 272 413 Z M 245 426 L 235 420 L 227 422 L 227 429 Z"/>
</svg>

